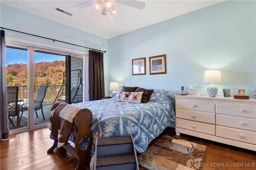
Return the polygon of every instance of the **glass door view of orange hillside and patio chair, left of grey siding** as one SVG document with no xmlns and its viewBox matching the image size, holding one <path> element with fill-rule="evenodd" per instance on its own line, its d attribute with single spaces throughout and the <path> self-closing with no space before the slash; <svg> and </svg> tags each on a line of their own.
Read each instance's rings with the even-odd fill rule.
<svg viewBox="0 0 256 170">
<path fill-rule="evenodd" d="M 50 109 L 57 94 L 60 99 L 65 98 L 65 84 L 63 84 L 65 71 L 65 55 L 34 50 L 34 125 L 49 122 Z"/>
</svg>

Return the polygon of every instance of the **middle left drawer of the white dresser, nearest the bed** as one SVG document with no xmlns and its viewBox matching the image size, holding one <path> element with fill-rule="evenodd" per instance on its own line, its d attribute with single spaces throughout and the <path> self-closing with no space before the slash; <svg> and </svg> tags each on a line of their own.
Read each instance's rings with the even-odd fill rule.
<svg viewBox="0 0 256 170">
<path fill-rule="evenodd" d="M 185 109 L 176 109 L 176 117 L 203 123 L 215 124 L 215 114 Z"/>
</svg>

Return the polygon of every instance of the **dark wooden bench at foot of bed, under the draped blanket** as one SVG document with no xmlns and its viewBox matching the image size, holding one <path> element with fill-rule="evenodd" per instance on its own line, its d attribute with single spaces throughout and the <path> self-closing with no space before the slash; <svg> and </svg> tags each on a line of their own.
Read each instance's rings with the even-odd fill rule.
<svg viewBox="0 0 256 170">
<path fill-rule="evenodd" d="M 51 111 L 54 110 L 60 103 L 56 103 L 52 106 Z M 89 168 L 90 166 L 90 150 L 92 147 L 92 132 L 90 130 L 90 123 L 92 122 L 92 112 L 89 109 L 81 109 L 76 113 L 76 116 L 73 119 L 77 127 L 77 134 L 75 140 L 75 148 L 72 147 L 69 143 L 65 143 L 62 147 L 72 153 L 77 159 L 78 164 L 75 170 L 81 170 L 84 168 Z M 52 132 L 52 131 L 51 131 Z M 50 149 L 47 150 L 47 153 L 52 153 L 53 150 L 57 147 L 58 136 L 53 135 L 54 143 Z M 81 138 L 89 137 L 89 143 L 86 150 L 81 150 L 78 142 Z"/>
</svg>

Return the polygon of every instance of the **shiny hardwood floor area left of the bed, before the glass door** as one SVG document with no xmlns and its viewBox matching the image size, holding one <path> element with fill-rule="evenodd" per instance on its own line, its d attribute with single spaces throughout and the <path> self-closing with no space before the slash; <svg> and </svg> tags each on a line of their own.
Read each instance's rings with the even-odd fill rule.
<svg viewBox="0 0 256 170">
<path fill-rule="evenodd" d="M 71 170 L 77 159 L 64 149 L 46 151 L 52 146 L 48 128 L 11 135 L 0 145 L 1 170 Z"/>
</svg>

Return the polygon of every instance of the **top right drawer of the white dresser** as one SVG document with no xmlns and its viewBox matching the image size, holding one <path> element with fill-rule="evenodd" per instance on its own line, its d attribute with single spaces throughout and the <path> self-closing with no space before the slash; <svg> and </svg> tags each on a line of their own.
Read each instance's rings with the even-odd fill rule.
<svg viewBox="0 0 256 170">
<path fill-rule="evenodd" d="M 223 115 L 256 118 L 256 106 L 234 105 L 234 104 L 217 104 L 216 113 Z"/>
</svg>

